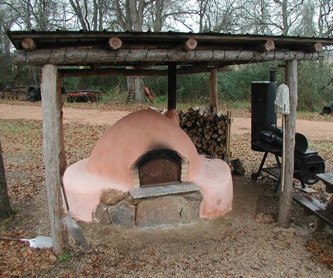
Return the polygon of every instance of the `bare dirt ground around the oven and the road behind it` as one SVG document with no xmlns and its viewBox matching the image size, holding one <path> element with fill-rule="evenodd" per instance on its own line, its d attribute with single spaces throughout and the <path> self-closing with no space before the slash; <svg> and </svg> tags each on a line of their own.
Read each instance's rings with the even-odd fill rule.
<svg viewBox="0 0 333 278">
<path fill-rule="evenodd" d="M 84 141 L 78 147 L 85 150 L 84 154 L 70 149 L 74 158 L 68 158 L 69 164 L 74 162 L 72 159 L 81 159 L 87 153 L 89 155 L 94 141 L 106 128 L 102 125 L 112 125 L 127 113 L 65 107 L 64 118 L 68 124 L 65 126 L 65 137 L 76 136 L 75 140 L 89 137 L 93 141 L 89 144 Z M 22 118 L 25 120 L 18 120 Z M 39 122 L 33 121 L 30 127 L 27 119 Z M 37 143 L 30 148 L 41 149 L 40 120 L 41 108 L 37 106 L 0 103 L 0 127 L 3 121 L 5 127 L 15 125 L 19 130 L 15 129 L 15 134 L 0 134 L 10 191 L 14 197 L 20 194 L 13 191 L 15 184 L 24 184 L 25 187 L 33 184 L 41 188 L 31 198 L 23 198 L 22 203 L 18 203 L 19 198 L 14 198 L 18 213 L 3 226 L 6 228 L 4 233 L 10 234 L 20 229 L 30 238 L 50 235 L 40 153 L 37 156 L 37 172 L 36 169 L 25 172 L 29 164 L 27 161 L 30 160 L 26 158 L 28 155 L 22 156 L 20 151 L 23 147 L 16 145 L 18 138 L 21 138 L 20 132 L 27 132 L 29 127 L 37 130 L 37 134 L 33 133 L 31 137 Z M 94 127 L 86 130 L 86 125 Z M 333 277 L 333 270 L 319 262 L 319 258 L 333 262 L 332 228 L 327 227 L 325 233 L 314 235 L 311 227 L 315 217 L 305 217 L 295 203 L 292 206 L 292 226 L 289 229 L 277 227 L 278 197 L 273 194 L 272 180 L 263 177 L 253 182 L 250 177 L 251 172 L 258 168 L 261 158 L 261 153 L 250 151 L 248 146 L 250 119 L 235 118 L 232 130 L 233 153 L 235 157 L 242 157 L 247 174 L 243 177 L 233 176 L 231 213 L 214 220 L 200 220 L 191 225 L 156 230 L 80 223 L 91 244 L 91 251 L 84 251 L 71 242 L 70 255 L 58 259 L 41 251 L 27 254 L 27 249 L 16 246 L 18 243 L 10 245 L 0 241 L 0 269 L 2 264 L 4 270 L 0 271 L 0 277 L 30 277 L 32 274 L 38 277 Z M 332 171 L 333 156 L 330 150 L 333 122 L 298 120 L 297 130 L 318 142 L 316 146 L 322 146 L 322 152 L 331 148 L 325 153 L 325 160 L 327 168 Z M 321 145 L 322 142 L 325 144 Z M 11 145 L 15 145 L 14 149 Z M 74 148 L 71 142 L 68 145 Z M 34 180 L 34 175 L 38 179 Z M 27 181 L 30 181 L 29 184 Z M 9 250 L 14 247 L 16 253 L 10 253 Z M 17 262 L 1 262 L 1 259 L 7 260 L 8 256 L 17 258 Z M 48 262 L 43 262 L 43 267 L 37 260 L 40 257 Z M 18 265 L 23 265 L 25 270 L 18 272 Z M 333 263 L 330 266 L 333 267 Z"/>
</svg>

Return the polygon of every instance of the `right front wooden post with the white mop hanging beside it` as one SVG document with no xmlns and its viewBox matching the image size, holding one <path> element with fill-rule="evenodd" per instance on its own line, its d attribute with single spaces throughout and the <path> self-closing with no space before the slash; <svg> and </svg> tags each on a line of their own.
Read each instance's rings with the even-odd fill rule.
<svg viewBox="0 0 333 278">
<path fill-rule="evenodd" d="M 285 185 L 281 191 L 278 226 L 289 227 L 292 208 L 292 181 L 294 176 L 294 149 L 297 107 L 297 61 L 286 62 L 286 84 L 289 87 L 290 114 L 286 116 L 285 125 Z"/>
</svg>

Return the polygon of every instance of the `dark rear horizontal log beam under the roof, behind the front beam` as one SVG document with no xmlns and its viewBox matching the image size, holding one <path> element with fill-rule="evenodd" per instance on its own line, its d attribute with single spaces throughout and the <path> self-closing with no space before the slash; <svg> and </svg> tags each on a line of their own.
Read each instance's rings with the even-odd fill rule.
<svg viewBox="0 0 333 278">
<path fill-rule="evenodd" d="M 218 71 L 231 71 L 231 67 L 222 67 L 216 69 Z M 211 68 L 207 67 L 184 67 L 178 68 L 176 70 L 177 75 L 190 75 L 193 73 L 210 72 Z M 166 76 L 168 75 L 168 70 L 136 70 L 136 69 L 126 69 L 126 68 L 104 68 L 100 70 L 89 70 L 89 69 L 64 69 L 59 70 L 61 77 L 80 77 L 80 76 Z"/>
</svg>

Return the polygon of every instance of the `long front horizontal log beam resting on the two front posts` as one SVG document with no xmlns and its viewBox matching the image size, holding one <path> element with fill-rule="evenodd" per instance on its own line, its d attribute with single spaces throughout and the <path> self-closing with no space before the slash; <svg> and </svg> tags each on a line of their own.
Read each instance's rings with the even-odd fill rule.
<svg viewBox="0 0 333 278">
<path fill-rule="evenodd" d="M 254 63 L 263 61 L 318 60 L 324 58 L 323 53 L 306 53 L 303 51 L 228 51 L 228 50 L 195 50 L 178 51 L 176 49 L 56 49 L 35 50 L 32 52 L 18 50 L 15 63 L 24 65 L 87 65 L 92 63 L 133 63 L 145 62 L 223 62 Z"/>
</svg>

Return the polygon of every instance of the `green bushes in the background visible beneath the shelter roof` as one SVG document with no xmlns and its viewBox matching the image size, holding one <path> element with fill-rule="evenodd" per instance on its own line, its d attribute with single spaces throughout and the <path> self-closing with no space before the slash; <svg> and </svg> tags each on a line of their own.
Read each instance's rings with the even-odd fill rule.
<svg viewBox="0 0 333 278">
<path fill-rule="evenodd" d="M 251 82 L 268 81 L 270 68 L 282 63 L 267 62 L 236 65 L 230 72 L 218 72 L 218 99 L 248 103 L 251 99 Z M 298 108 L 320 110 L 333 99 L 333 67 L 327 61 L 303 61 L 298 66 Z M 144 77 L 155 103 L 167 101 L 167 77 Z M 278 84 L 285 82 L 284 68 L 278 68 Z M 126 100 L 126 77 L 79 77 L 65 79 L 66 89 L 101 89 L 103 101 Z M 178 75 L 178 103 L 196 105 L 209 103 L 209 73 Z"/>
</svg>

